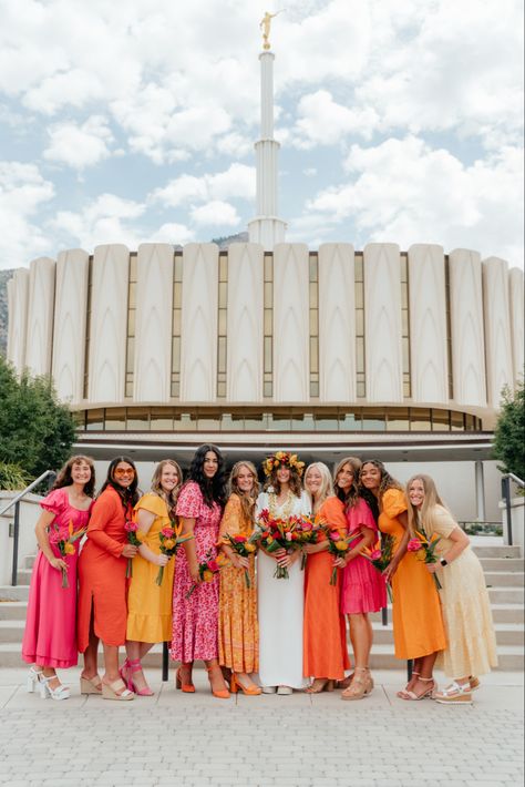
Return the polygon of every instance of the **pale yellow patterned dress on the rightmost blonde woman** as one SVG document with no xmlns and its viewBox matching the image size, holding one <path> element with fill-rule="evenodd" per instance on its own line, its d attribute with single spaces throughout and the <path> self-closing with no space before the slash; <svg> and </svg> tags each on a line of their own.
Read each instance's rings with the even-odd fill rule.
<svg viewBox="0 0 525 787">
<path fill-rule="evenodd" d="M 450 511 L 435 505 L 424 522 L 426 538 L 441 536 L 435 548 L 446 555 L 453 541 L 449 538 L 457 528 Z M 447 677 L 484 675 L 497 666 L 496 637 L 485 576 L 477 556 L 467 546 L 449 565 L 436 572 L 441 587 L 441 605 L 447 647 L 442 654 Z M 441 655 L 440 655 L 441 662 Z"/>
</svg>

